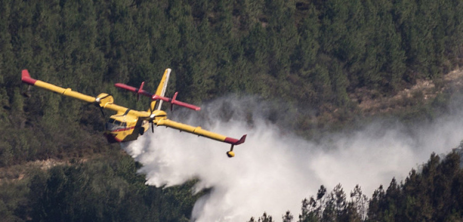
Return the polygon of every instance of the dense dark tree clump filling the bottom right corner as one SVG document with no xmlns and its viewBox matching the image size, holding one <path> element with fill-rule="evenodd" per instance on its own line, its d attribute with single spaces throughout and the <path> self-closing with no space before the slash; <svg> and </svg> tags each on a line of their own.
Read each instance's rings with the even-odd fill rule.
<svg viewBox="0 0 463 222">
<path fill-rule="evenodd" d="M 385 192 L 382 188 L 375 191 L 369 220 L 443 221 L 461 217 L 463 208 L 458 201 L 462 173 L 457 151 L 442 160 L 432 154 L 421 173 L 412 170 L 403 184 L 393 180 Z"/>
</svg>

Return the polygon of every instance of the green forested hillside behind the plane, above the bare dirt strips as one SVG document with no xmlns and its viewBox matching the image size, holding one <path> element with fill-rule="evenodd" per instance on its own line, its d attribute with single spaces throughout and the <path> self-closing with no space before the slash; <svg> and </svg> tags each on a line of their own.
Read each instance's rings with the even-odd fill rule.
<svg viewBox="0 0 463 222">
<path fill-rule="evenodd" d="M 152 89 L 171 67 L 169 90 L 189 102 L 253 94 L 323 112 L 354 108 L 348 93 L 356 88 L 394 93 L 418 78 L 438 79 L 463 54 L 460 1 L 10 1 L 0 7 L 0 120 L 14 126 L 2 130 L 0 165 L 104 142 L 88 140 L 81 129 L 102 130 L 93 107 L 40 90 L 24 100 L 24 68 L 85 94 L 115 94 L 116 102 L 136 108 L 144 106 L 112 84 L 147 81 Z"/>
</svg>

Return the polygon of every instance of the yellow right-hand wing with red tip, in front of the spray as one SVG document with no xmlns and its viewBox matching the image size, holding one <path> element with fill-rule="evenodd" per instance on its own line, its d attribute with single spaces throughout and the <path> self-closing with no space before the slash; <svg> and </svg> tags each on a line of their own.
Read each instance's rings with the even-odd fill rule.
<svg viewBox="0 0 463 222">
<path fill-rule="evenodd" d="M 167 126 L 167 127 L 175 128 L 180 131 L 185 131 L 185 132 L 192 133 L 198 136 L 203 136 L 203 137 L 218 140 L 221 142 L 226 142 L 231 145 L 239 145 L 243 143 L 244 140 L 246 139 L 246 135 L 243 135 L 240 139 L 235 139 L 235 138 L 226 137 L 226 136 L 223 136 L 217 133 L 212 133 L 207 130 L 203 130 L 200 126 L 195 127 L 195 126 L 175 122 L 169 119 L 158 119 L 158 120 L 154 120 L 153 122 L 157 126 Z"/>
</svg>

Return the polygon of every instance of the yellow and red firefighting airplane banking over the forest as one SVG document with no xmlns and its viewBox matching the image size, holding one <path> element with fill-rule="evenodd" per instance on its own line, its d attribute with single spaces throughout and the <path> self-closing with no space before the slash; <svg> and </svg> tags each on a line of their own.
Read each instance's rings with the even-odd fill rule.
<svg viewBox="0 0 463 222">
<path fill-rule="evenodd" d="M 220 134 L 212 133 L 206 130 L 203 130 L 200 126 L 194 127 L 191 125 L 175 122 L 167 119 L 167 114 L 161 110 L 163 101 L 169 102 L 172 105 L 180 105 L 187 107 L 193 110 L 200 110 L 201 108 L 195 105 L 188 103 L 180 102 L 176 100 L 177 93 L 174 94 L 172 98 L 164 97 L 166 93 L 167 82 L 169 81 L 171 69 L 166 69 L 164 72 L 163 78 L 157 87 L 155 94 L 150 94 L 147 91 L 143 90 L 145 82 L 142 82 L 139 88 L 128 86 L 122 83 L 116 83 L 115 86 L 133 91 L 139 95 L 147 96 L 151 98 L 150 108 L 147 111 L 137 111 L 127 107 L 114 104 L 113 96 L 102 93 L 96 98 L 92 96 L 87 96 L 77 91 L 73 91 L 70 88 L 62 88 L 53 84 L 49 84 L 40 80 L 32 79 L 29 75 L 27 69 L 22 71 L 21 80 L 23 83 L 38 86 L 50 91 L 53 91 L 64 96 L 76 98 L 88 103 L 93 103 L 101 109 L 109 109 L 117 112 L 115 115 L 112 115 L 109 118 L 109 121 L 106 123 L 106 132 L 105 136 L 108 138 L 109 142 L 126 142 L 131 140 L 136 140 L 138 135 L 143 135 L 151 123 L 151 130 L 154 133 L 154 125 L 156 126 L 167 126 L 175 128 L 180 131 L 185 131 L 188 133 L 196 134 L 198 136 L 204 136 L 210 139 L 222 141 L 231 144 L 230 150 L 227 152 L 228 157 L 234 157 L 235 153 L 233 152 L 233 146 L 239 145 L 244 142 L 246 135 L 243 135 L 240 139 L 234 139 L 226 137 Z"/>
</svg>

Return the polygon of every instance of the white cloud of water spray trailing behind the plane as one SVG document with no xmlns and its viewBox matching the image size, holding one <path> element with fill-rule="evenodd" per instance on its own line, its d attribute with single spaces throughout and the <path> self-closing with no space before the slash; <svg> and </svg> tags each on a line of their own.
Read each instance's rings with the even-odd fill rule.
<svg viewBox="0 0 463 222">
<path fill-rule="evenodd" d="M 234 158 L 226 157 L 225 143 L 165 127 L 124 149 L 144 165 L 140 173 L 146 174 L 149 185 L 174 186 L 198 178 L 196 191 L 210 188 L 195 203 L 193 221 L 247 221 L 264 211 L 278 221 L 287 210 L 297 218 L 302 199 L 315 195 L 322 184 L 330 191 L 341 183 L 346 193 L 359 184 L 371 195 L 380 184 L 387 187 L 393 177 L 403 180 L 432 152 L 447 153 L 463 138 L 459 114 L 412 130 L 400 123 L 375 122 L 314 143 L 266 122 L 259 115 L 262 106 L 243 115 L 241 107 L 249 110 L 249 100 L 211 102 L 202 111 L 211 116 L 202 121 L 198 116 L 172 118 L 230 137 L 247 133 L 246 142 L 235 147 Z M 231 110 L 229 121 L 214 116 L 220 115 L 224 104 Z M 250 120 L 252 127 L 247 124 Z"/>
</svg>

